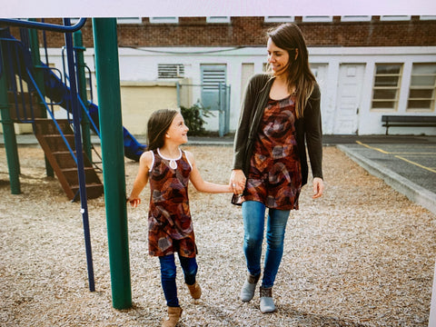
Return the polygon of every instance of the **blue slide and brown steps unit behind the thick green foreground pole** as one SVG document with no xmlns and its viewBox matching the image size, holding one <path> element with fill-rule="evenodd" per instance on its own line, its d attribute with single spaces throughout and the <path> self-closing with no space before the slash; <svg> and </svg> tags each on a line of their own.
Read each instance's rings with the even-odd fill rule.
<svg viewBox="0 0 436 327">
<path fill-rule="evenodd" d="M 45 35 L 45 31 L 43 31 Z M 77 159 L 74 154 L 74 126 L 72 119 L 72 96 L 69 75 L 39 60 L 39 46 L 35 30 L 20 28 L 21 40 L 17 40 L 7 29 L 2 31 L 1 43 L 4 49 L 2 60 L 5 62 L 5 78 L 7 81 L 7 100 L 10 106 L 10 118 L 13 123 L 32 124 L 39 144 L 45 152 L 50 165 L 47 175 L 53 171 L 70 200 L 79 193 L 77 176 Z M 100 136 L 98 123 L 98 106 L 93 102 L 93 94 L 88 102 L 84 69 L 84 47 L 80 31 L 74 32 L 75 65 L 77 66 L 78 94 L 80 104 L 79 120 L 82 125 L 82 142 L 84 144 L 84 175 L 88 199 L 103 194 L 103 183 L 95 173 L 92 163 L 90 128 Z M 46 54 L 45 42 L 45 54 Z M 59 76 L 58 76 L 59 75 Z M 89 74 L 89 83 L 91 74 Z M 47 102 L 47 100 L 50 102 Z M 65 113 L 55 112 L 55 107 L 64 108 Z M 59 119 L 56 115 L 64 114 Z M 5 115 L 5 114 L 4 114 Z M 4 118 L 5 120 L 5 118 Z M 6 119 L 7 120 L 7 119 Z M 124 128 L 124 155 L 135 161 L 144 152 L 144 145 L 139 144 L 132 134 Z"/>
</svg>

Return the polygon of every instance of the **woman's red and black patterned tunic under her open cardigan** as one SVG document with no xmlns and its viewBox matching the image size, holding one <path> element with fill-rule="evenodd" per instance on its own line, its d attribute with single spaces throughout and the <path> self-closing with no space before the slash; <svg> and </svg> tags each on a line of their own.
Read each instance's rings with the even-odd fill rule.
<svg viewBox="0 0 436 327">
<path fill-rule="evenodd" d="M 268 101 L 243 193 L 244 201 L 268 208 L 298 210 L 302 171 L 295 140 L 295 104 L 289 96 Z"/>
</svg>

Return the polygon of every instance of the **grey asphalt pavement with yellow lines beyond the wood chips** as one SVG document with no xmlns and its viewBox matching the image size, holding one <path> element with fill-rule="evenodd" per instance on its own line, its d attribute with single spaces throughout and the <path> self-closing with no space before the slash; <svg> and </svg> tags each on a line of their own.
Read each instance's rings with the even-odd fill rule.
<svg viewBox="0 0 436 327">
<path fill-rule="evenodd" d="M 143 136 L 136 138 L 145 144 Z M 34 134 L 17 134 L 16 139 L 19 145 L 37 144 Z M 93 136 L 92 142 L 99 140 Z M 190 136 L 188 144 L 230 146 L 233 135 Z M 337 146 L 369 173 L 436 214 L 436 135 L 324 135 L 323 144 Z"/>
</svg>

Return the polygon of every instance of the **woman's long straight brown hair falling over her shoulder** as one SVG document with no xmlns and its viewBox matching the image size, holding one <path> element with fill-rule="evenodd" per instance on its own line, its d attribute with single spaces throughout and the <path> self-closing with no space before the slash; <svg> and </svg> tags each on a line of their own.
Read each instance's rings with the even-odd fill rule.
<svg viewBox="0 0 436 327">
<path fill-rule="evenodd" d="M 289 54 L 288 88 L 291 92 L 292 86 L 295 87 L 295 113 L 297 118 L 301 118 L 316 84 L 315 76 L 309 66 L 309 54 L 302 31 L 297 25 L 287 23 L 273 28 L 267 35 L 274 45 Z M 295 58 L 295 49 L 298 49 L 297 58 Z M 268 72 L 272 74 L 271 67 L 268 67 Z"/>
</svg>

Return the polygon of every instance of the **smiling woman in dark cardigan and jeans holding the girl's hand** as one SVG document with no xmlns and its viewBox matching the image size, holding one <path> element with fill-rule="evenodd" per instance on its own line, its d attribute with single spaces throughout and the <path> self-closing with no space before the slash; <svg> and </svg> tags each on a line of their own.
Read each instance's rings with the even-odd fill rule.
<svg viewBox="0 0 436 327">
<path fill-rule="evenodd" d="M 289 213 L 298 210 L 307 183 L 310 156 L 313 198 L 322 196 L 320 89 L 297 25 L 268 34 L 268 74 L 254 75 L 245 91 L 234 140 L 233 203 L 243 206 L 243 251 L 248 277 L 241 300 L 253 299 L 261 275 L 264 216 L 268 208 L 267 249 L 260 288 L 261 312 L 274 312 L 272 286 L 282 261 Z"/>
</svg>

